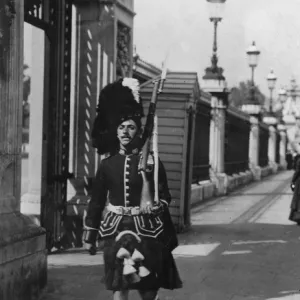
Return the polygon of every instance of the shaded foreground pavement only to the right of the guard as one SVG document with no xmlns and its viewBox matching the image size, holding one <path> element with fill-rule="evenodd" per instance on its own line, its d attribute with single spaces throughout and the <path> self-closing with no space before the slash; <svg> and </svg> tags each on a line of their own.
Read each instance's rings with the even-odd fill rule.
<svg viewBox="0 0 300 300">
<path fill-rule="evenodd" d="M 300 299 L 299 236 L 296 225 L 193 226 L 179 235 L 181 245 L 199 246 L 202 253 L 205 245 L 217 246 L 202 256 L 195 249 L 184 253 L 183 246 L 177 258 L 183 290 L 193 292 L 170 299 Z"/>
</svg>

